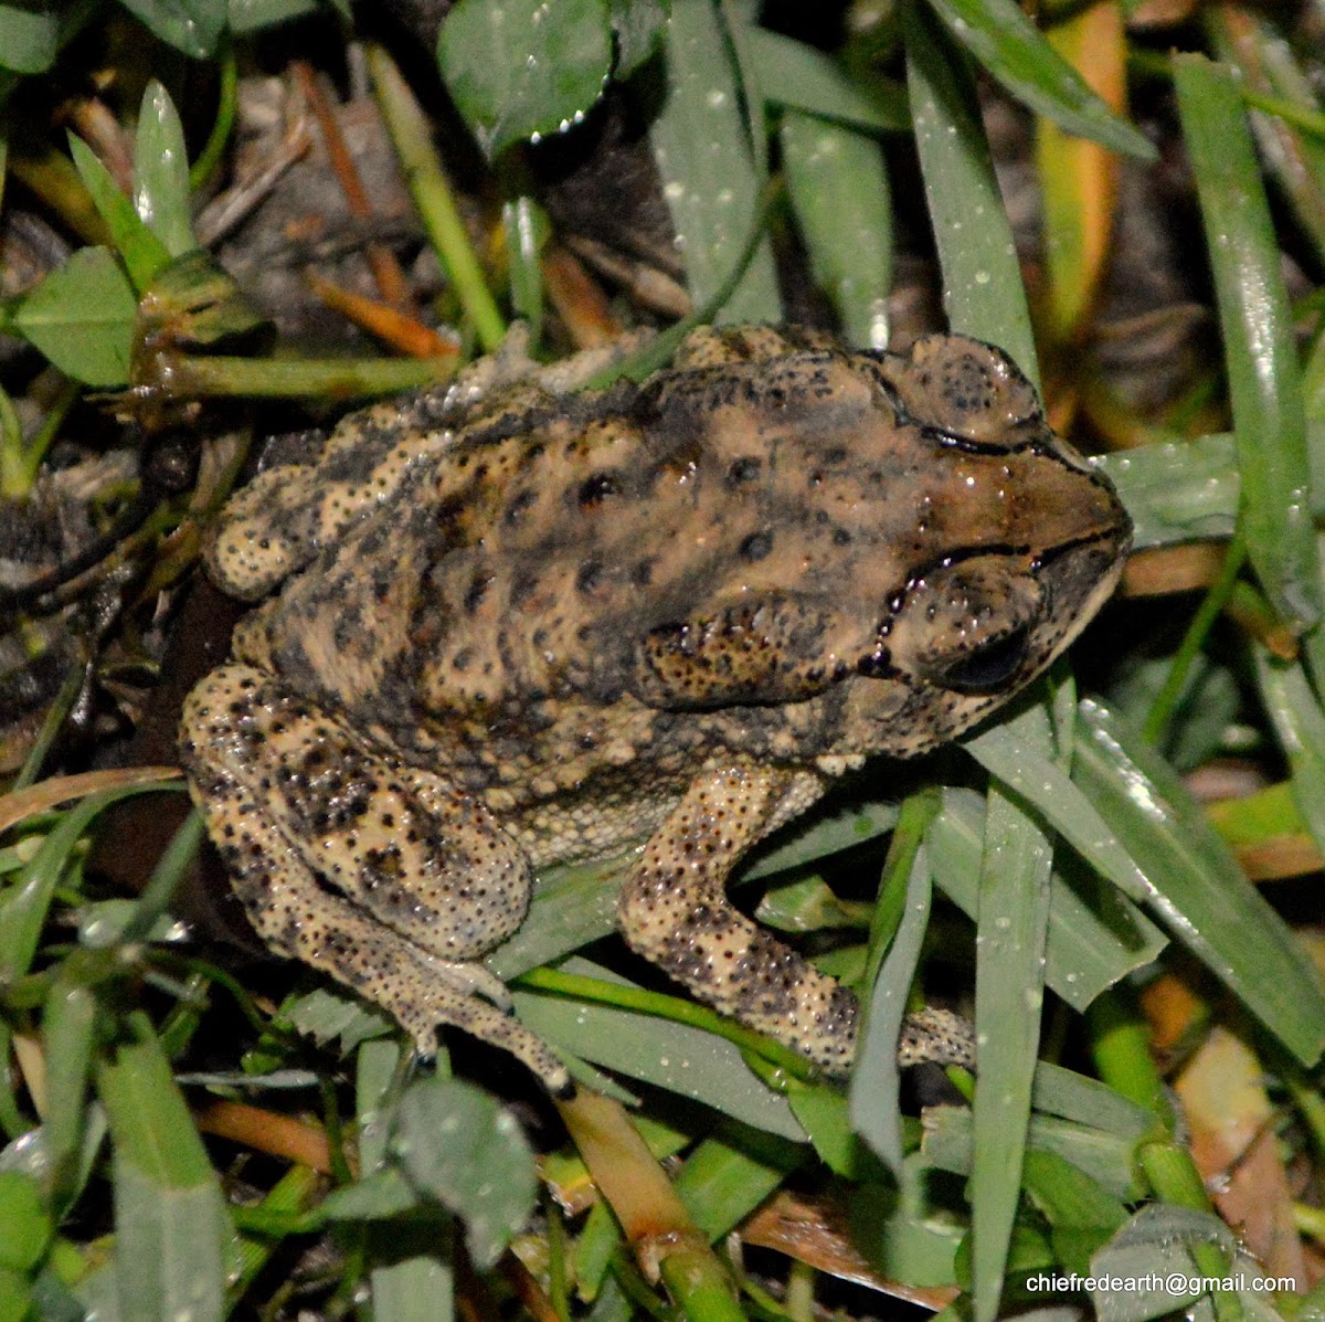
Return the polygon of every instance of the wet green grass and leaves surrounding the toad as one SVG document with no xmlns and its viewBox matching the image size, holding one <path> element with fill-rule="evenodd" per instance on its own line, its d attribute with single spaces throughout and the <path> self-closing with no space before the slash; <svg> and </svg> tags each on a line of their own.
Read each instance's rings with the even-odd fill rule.
<svg viewBox="0 0 1325 1322">
<path fill-rule="evenodd" d="M 461 0 L 439 65 L 457 114 L 429 119 L 427 77 L 407 78 L 390 42 L 366 48 L 444 274 L 433 311 L 462 344 L 492 348 L 523 314 L 550 354 L 651 315 L 592 277 L 574 294 L 558 283 L 567 236 L 527 147 L 615 79 L 652 107 L 694 319 L 783 318 L 775 254 L 799 252 L 820 306 L 880 346 L 898 257 L 931 252 L 949 327 L 1004 347 L 1061 429 L 1114 445 L 1101 465 L 1137 526 L 1130 582 L 1171 592 L 1159 611 L 1134 595 L 1109 608 L 1076 652 L 1089 682 L 1061 664 L 961 748 L 871 764 L 738 880 L 861 991 L 869 1027 L 847 1089 L 674 988 L 635 983 L 604 939 L 623 861 L 539 878 L 490 964 L 586 1085 L 558 1114 L 464 1039 L 421 1069 L 335 987 L 183 941 L 172 915 L 196 817 L 135 898 L 89 854 L 113 805 L 160 813 L 180 789 L 90 771 L 86 731 L 89 717 L 139 714 L 159 621 L 178 615 L 242 462 L 246 436 L 191 401 L 344 400 L 454 368 L 403 325 L 421 309 L 396 306 L 413 295 L 380 245 L 372 269 L 398 293 L 371 332 L 435 356 L 261 356 L 262 315 L 191 252 L 197 192 L 227 178 L 254 52 L 303 60 L 317 38 L 325 57 L 339 37 L 326 13 L 274 26 L 311 4 L 250 5 L 229 33 L 227 7 L 197 8 L 183 26 L 154 4 L 0 9 L 5 125 L 20 123 L 20 89 L 49 111 L 7 142 L 26 193 L 7 189 L 5 207 L 90 240 L 0 305 L 0 331 L 29 347 L 0 375 L 13 515 L 57 481 L 61 438 L 93 419 L 89 391 L 127 391 L 119 408 L 147 431 L 205 437 L 196 481 L 144 465 L 152 519 L 102 566 L 0 601 L 7 656 L 62 658 L 7 737 L 0 797 L 0 1319 L 807 1322 L 880 1313 L 893 1305 L 874 1292 L 901 1290 L 984 1322 L 1045 1302 L 1037 1282 L 1069 1273 L 1218 1278 L 1190 1294 L 1220 1319 L 1308 1315 L 1325 1221 L 1318 52 L 1232 5 L 1169 34 L 1186 46 L 1169 57 L 1110 4 L 1049 7 L 1045 34 L 1010 0 L 934 0 L 843 34 L 772 32 L 709 0 L 673 0 L 669 17 L 656 0 L 611 17 L 586 0 L 546 20 L 533 0 L 501 13 Z M 80 28 L 123 52 L 93 98 L 99 135 L 86 103 L 61 101 L 90 73 Z M 134 42 L 159 81 L 129 58 Z M 1191 219 L 1166 223 L 1218 326 L 1218 351 L 1146 405 L 1101 330 L 1121 172 L 1155 155 L 1128 118 L 1129 69 L 1140 103 L 1175 98 L 1173 123 L 1151 127 L 1189 163 Z M 1027 107 L 1044 261 L 1006 212 L 982 78 Z M 56 125 L 70 115 L 66 151 Z M 457 160 L 489 205 L 465 201 Z M 655 350 L 635 368 L 656 366 Z M 98 490 L 87 517 L 113 529 L 135 498 Z M 1192 560 L 1192 546 L 1227 559 Z M 1242 779 L 1207 808 L 1194 789 L 1231 759 Z M 117 832 L 132 828 L 105 820 L 102 850 L 127 850 Z M 945 988 L 974 1017 L 977 1077 L 955 1072 L 953 1101 L 914 1114 L 896 1025 Z M 1263 1292 L 1259 1270 L 1292 1285 Z M 1140 1322 L 1189 1296 L 1102 1284 L 1053 1299 Z"/>
</svg>

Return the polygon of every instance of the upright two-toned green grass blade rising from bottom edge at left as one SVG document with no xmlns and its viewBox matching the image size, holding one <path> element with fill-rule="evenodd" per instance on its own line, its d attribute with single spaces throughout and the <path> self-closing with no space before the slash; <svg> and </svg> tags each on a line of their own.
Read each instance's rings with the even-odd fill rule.
<svg viewBox="0 0 1325 1322">
<path fill-rule="evenodd" d="M 97 1070 L 114 1143 L 119 1310 L 135 1322 L 225 1314 L 225 1199 L 147 1027 Z"/>
</svg>

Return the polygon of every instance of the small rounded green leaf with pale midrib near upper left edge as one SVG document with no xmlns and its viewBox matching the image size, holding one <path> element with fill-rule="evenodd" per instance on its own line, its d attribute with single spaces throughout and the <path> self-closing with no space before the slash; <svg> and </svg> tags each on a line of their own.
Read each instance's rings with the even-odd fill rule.
<svg viewBox="0 0 1325 1322">
<path fill-rule="evenodd" d="M 134 291 L 109 248 L 80 248 L 19 305 L 13 329 L 85 385 L 129 381 Z"/>
</svg>

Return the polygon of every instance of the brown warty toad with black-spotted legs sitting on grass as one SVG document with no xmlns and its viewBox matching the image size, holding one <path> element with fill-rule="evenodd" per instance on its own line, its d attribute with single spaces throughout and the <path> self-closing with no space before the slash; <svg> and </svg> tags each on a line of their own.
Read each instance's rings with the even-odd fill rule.
<svg viewBox="0 0 1325 1322">
<path fill-rule="evenodd" d="M 482 956 L 535 872 L 635 848 L 625 941 L 848 1070 L 857 1005 L 738 913 L 759 840 L 871 754 L 954 739 L 1112 592 L 1130 523 L 1002 351 L 690 335 L 641 385 L 514 350 L 346 417 L 233 497 L 208 552 L 262 604 L 182 752 L 277 951 L 553 1092 Z"/>
</svg>

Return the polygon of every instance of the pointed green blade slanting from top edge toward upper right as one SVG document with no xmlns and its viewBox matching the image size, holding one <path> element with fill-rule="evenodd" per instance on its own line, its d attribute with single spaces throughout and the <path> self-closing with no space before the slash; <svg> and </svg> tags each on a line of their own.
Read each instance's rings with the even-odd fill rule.
<svg viewBox="0 0 1325 1322">
<path fill-rule="evenodd" d="M 1035 30 L 1015 0 L 929 3 L 980 68 L 1036 114 L 1114 151 L 1154 160 L 1150 142 L 1083 82 L 1076 69 Z"/>
</svg>

